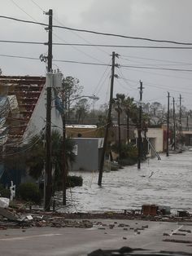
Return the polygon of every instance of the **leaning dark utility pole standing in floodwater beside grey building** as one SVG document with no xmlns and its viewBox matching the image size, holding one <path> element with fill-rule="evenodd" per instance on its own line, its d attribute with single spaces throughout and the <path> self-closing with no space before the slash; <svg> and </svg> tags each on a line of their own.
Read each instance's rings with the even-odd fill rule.
<svg viewBox="0 0 192 256">
<path fill-rule="evenodd" d="M 107 115 L 107 126 L 105 130 L 105 136 L 103 141 L 103 151 L 101 156 L 101 161 L 99 165 L 99 174 L 98 174 L 98 186 L 102 185 L 102 178 L 103 178 L 103 165 L 105 161 L 105 152 L 107 148 L 107 137 L 108 137 L 108 130 L 111 126 L 111 108 L 112 108 L 112 99 L 113 99 L 113 85 L 114 85 L 114 77 L 115 77 L 115 62 L 116 62 L 116 55 L 115 51 L 112 52 L 112 65 L 111 65 L 111 90 L 110 90 L 110 99 L 109 99 L 109 109 L 108 109 L 108 115 Z"/>
</svg>

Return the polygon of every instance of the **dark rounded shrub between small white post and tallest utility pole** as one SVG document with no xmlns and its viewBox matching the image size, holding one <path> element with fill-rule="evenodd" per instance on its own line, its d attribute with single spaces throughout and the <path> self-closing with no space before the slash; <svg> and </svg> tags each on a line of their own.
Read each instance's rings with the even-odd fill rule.
<svg viewBox="0 0 192 256">
<path fill-rule="evenodd" d="M 18 188 L 20 199 L 38 204 L 41 201 L 39 188 L 35 183 L 21 183 Z"/>
</svg>

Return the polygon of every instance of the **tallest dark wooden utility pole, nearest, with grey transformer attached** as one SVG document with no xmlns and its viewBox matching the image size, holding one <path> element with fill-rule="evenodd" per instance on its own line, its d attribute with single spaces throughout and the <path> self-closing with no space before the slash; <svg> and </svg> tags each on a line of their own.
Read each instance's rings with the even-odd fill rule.
<svg viewBox="0 0 192 256">
<path fill-rule="evenodd" d="M 53 27 L 53 11 L 50 9 L 46 12 L 49 15 L 49 41 L 48 41 L 48 73 L 52 72 L 52 27 Z M 50 79 L 52 77 L 50 76 Z M 51 201 L 51 183 L 52 183 L 52 166 L 51 166 L 51 83 L 46 88 L 46 171 L 45 171 L 45 195 L 44 209 L 50 210 Z"/>
</svg>

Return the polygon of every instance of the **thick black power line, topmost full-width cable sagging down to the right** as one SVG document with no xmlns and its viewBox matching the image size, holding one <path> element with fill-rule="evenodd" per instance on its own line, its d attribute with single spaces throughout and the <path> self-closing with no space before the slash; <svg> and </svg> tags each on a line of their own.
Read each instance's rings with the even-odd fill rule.
<svg viewBox="0 0 192 256">
<path fill-rule="evenodd" d="M 48 24 L 45 24 L 45 23 L 41 23 L 41 22 L 37 22 L 37 21 L 35 22 L 35 21 L 32 21 L 32 20 L 21 20 L 21 19 L 10 17 L 10 16 L 6 16 L 6 15 L 0 15 L 0 18 L 7 19 L 7 20 L 15 20 L 15 21 L 19 21 L 19 22 L 28 23 L 28 24 L 39 24 L 39 25 L 43 25 L 43 26 L 48 25 Z M 66 26 L 59 26 L 59 25 L 53 25 L 53 27 L 57 28 L 57 29 L 67 29 L 67 30 L 72 30 L 72 31 L 76 31 L 76 32 L 94 33 L 94 34 L 98 34 L 98 35 L 111 36 L 111 37 L 117 37 L 117 38 L 128 38 L 128 39 L 142 40 L 142 41 L 148 41 L 148 42 L 166 42 L 166 43 L 172 43 L 172 44 L 177 44 L 177 45 L 192 46 L 191 42 L 177 42 L 177 41 L 172 41 L 172 40 L 160 40 L 160 39 L 152 39 L 152 38 L 129 37 L 129 36 L 122 35 L 122 34 L 117 34 L 117 33 L 103 33 L 103 32 L 98 32 L 98 31 L 94 31 L 94 30 L 74 29 L 74 28 L 70 28 L 70 27 L 66 27 Z"/>
</svg>

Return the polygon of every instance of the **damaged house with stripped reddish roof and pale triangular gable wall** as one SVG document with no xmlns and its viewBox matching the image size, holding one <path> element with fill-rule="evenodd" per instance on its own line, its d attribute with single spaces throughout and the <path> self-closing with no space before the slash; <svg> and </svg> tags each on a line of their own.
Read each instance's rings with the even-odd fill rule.
<svg viewBox="0 0 192 256">
<path fill-rule="evenodd" d="M 54 105 L 54 103 L 53 103 Z M 52 122 L 62 127 L 59 111 L 52 108 Z M 5 171 L 3 159 L 14 158 L 21 146 L 45 130 L 46 77 L 0 76 L 0 181 L 20 183 L 23 170 L 12 166 Z"/>
</svg>

